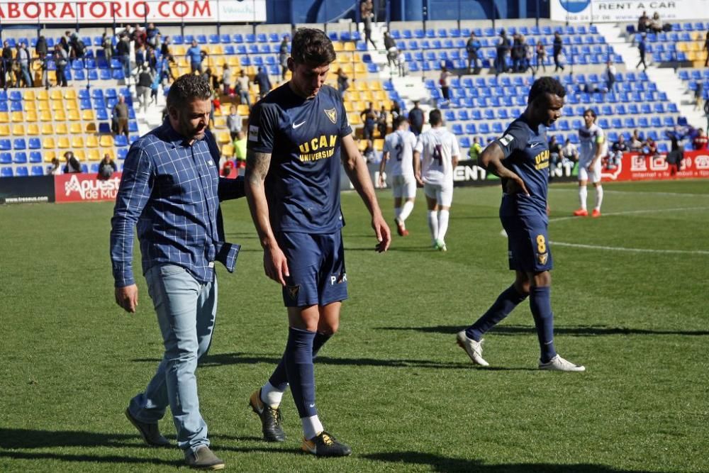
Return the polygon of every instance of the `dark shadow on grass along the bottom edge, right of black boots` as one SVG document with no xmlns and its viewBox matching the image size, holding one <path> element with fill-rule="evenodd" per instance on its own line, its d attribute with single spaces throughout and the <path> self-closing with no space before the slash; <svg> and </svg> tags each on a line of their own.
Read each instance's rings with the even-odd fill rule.
<svg viewBox="0 0 709 473">
<path fill-rule="evenodd" d="M 403 469 L 406 469 L 406 464 L 428 465 L 434 472 L 630 473 L 630 470 L 615 469 L 602 464 L 484 464 L 479 460 L 449 458 L 423 452 L 373 453 L 362 457 L 377 462 L 398 463 Z"/>
</svg>

